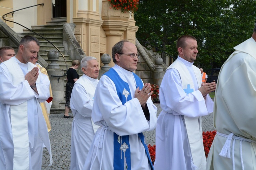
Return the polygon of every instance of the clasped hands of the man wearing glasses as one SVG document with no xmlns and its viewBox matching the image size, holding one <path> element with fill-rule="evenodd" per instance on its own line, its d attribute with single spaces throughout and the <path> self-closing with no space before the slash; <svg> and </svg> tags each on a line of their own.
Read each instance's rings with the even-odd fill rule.
<svg viewBox="0 0 256 170">
<path fill-rule="evenodd" d="M 143 88 L 140 90 L 139 87 L 135 90 L 134 97 L 137 98 L 141 106 L 145 106 L 147 99 L 152 95 L 150 83 L 146 83 Z"/>
</svg>

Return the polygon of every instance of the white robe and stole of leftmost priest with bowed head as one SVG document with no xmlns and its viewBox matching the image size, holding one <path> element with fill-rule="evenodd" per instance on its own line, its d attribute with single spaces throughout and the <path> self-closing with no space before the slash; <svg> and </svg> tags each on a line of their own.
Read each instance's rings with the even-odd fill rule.
<svg viewBox="0 0 256 170">
<path fill-rule="evenodd" d="M 10 63 L 13 64 L 13 67 L 10 67 Z M 8 68 L 6 65 L 8 65 Z M 40 78 L 38 78 L 38 81 L 36 82 L 38 90 L 38 94 L 36 94 L 30 87 L 28 81 L 24 78 L 25 74 L 30 71 L 28 70 L 31 68 L 29 65 L 33 64 L 20 63 L 16 57 L 12 57 L 10 60 L 6 61 L 6 65 L 5 62 L 3 62 L 0 66 L 0 169 L 16 169 L 14 168 L 14 161 L 16 163 L 16 155 L 14 155 L 16 150 L 14 151 L 14 148 L 19 148 L 19 146 L 16 145 L 17 142 L 14 145 L 15 141 L 13 141 L 13 135 L 18 134 L 19 132 L 24 132 L 24 129 L 15 132 L 13 131 L 14 124 L 11 123 L 11 118 L 13 116 L 11 110 L 13 106 L 15 107 L 21 104 L 27 108 L 25 113 L 20 112 L 20 116 L 23 116 L 27 123 L 27 130 L 25 130 L 25 132 L 27 131 L 27 146 L 29 146 L 29 148 L 27 148 L 29 151 L 28 155 L 24 153 L 22 159 L 24 158 L 24 160 L 26 160 L 27 156 L 29 157 L 29 170 L 41 169 L 43 142 L 50 153 L 50 163 L 52 163 L 47 126 L 39 104 L 39 102 L 44 102 L 49 98 L 50 82 L 47 76 L 40 72 Z M 11 75 L 11 72 L 9 71 L 10 69 L 16 71 L 17 78 L 12 77 L 13 73 Z M 20 79 L 24 80 L 19 84 L 14 85 L 14 82 L 17 82 L 15 79 L 18 81 Z M 23 108 L 20 109 L 23 110 Z M 20 120 L 20 122 L 22 121 L 24 121 L 24 119 Z M 15 124 L 17 123 L 19 122 L 15 122 Z M 24 143 L 20 143 L 20 145 L 23 144 Z M 25 162 L 26 161 L 23 163 L 25 164 Z"/>
</svg>

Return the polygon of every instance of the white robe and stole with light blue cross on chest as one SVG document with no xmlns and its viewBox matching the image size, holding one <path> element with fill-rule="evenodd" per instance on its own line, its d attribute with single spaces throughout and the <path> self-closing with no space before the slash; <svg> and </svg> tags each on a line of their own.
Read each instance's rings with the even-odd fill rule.
<svg viewBox="0 0 256 170">
<path fill-rule="evenodd" d="M 200 70 L 193 69 L 193 63 L 187 62 L 181 57 L 177 61 L 184 64 L 186 72 L 190 76 L 192 82 L 190 85 L 194 86 L 193 92 L 186 94 L 182 86 L 181 76 L 175 68 L 169 68 L 162 80 L 160 86 L 160 105 L 162 112 L 157 119 L 156 128 L 156 160 L 154 163 L 155 170 L 190 170 L 192 163 L 198 169 L 205 169 L 206 159 L 202 146 L 202 136 L 198 140 L 201 145 L 200 155 L 195 155 L 194 148 L 190 148 L 191 143 L 188 141 L 186 125 L 184 119 L 198 120 L 196 126 L 192 127 L 194 131 L 202 133 L 200 116 L 205 116 L 213 111 L 213 101 L 207 95 L 204 100 L 198 88 L 201 86 Z M 194 66 L 195 67 L 195 66 Z M 193 142 L 193 141 L 190 141 Z M 192 155 L 191 155 L 192 154 Z M 197 153 L 198 154 L 198 153 Z"/>
</svg>

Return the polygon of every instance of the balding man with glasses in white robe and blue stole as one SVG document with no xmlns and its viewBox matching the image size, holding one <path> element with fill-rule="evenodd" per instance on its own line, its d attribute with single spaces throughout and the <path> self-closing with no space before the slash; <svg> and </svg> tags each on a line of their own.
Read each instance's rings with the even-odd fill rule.
<svg viewBox="0 0 256 170">
<path fill-rule="evenodd" d="M 153 169 L 142 134 L 157 123 L 151 85 L 133 73 L 139 58 L 134 44 L 119 41 L 112 58 L 115 66 L 102 75 L 95 90 L 91 117 L 100 128 L 84 169 Z"/>
</svg>

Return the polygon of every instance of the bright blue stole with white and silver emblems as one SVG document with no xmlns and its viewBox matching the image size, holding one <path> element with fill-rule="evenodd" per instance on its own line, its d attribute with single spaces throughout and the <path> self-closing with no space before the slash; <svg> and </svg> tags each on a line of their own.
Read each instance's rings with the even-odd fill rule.
<svg viewBox="0 0 256 170">
<path fill-rule="evenodd" d="M 115 84 L 116 86 L 116 91 L 117 95 L 122 102 L 122 104 L 125 104 L 127 101 L 131 100 L 131 92 L 129 88 L 129 84 L 123 81 L 117 72 L 113 69 L 110 68 L 108 72 L 105 74 L 108 76 Z M 136 88 L 142 89 L 144 86 L 141 79 L 139 78 L 138 75 L 133 73 L 135 82 L 136 82 Z M 114 133 L 114 132 L 113 132 Z M 139 133 L 138 136 L 141 139 L 141 142 L 145 148 L 145 151 L 147 153 L 148 161 L 151 164 L 151 169 L 153 168 L 153 164 L 151 161 L 150 153 L 148 151 L 146 142 L 145 142 L 145 137 L 143 133 Z M 114 170 L 131 170 L 131 152 L 130 152 L 130 143 L 129 143 L 129 135 L 125 136 L 119 136 L 116 133 L 114 133 Z"/>
</svg>

